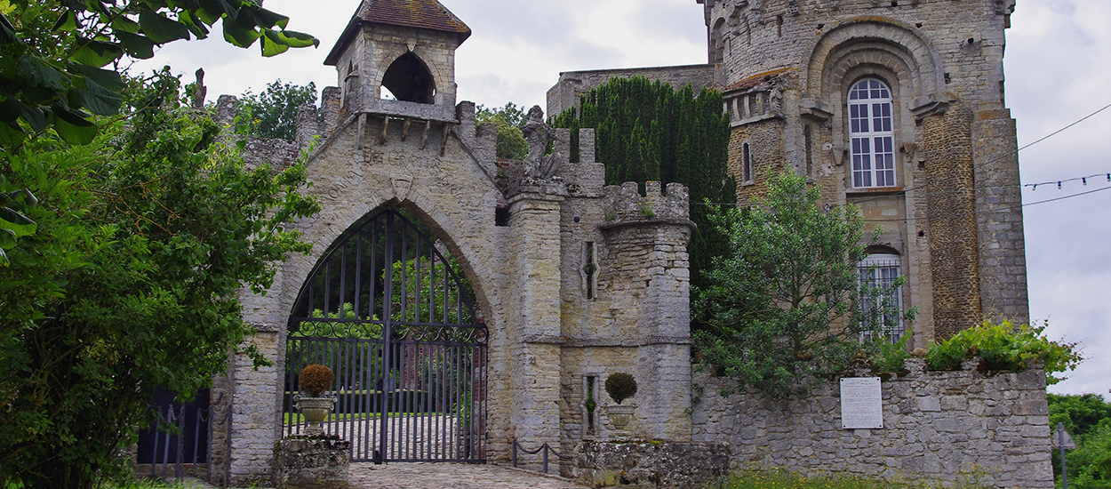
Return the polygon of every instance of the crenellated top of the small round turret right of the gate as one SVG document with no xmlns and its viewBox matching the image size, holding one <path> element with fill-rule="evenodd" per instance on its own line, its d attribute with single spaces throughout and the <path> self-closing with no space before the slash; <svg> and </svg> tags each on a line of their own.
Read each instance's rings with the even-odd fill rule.
<svg viewBox="0 0 1111 489">
<path fill-rule="evenodd" d="M 641 194 L 637 182 L 627 181 L 620 187 L 607 186 L 602 192 L 607 221 L 603 227 L 659 221 L 693 226 L 690 190 L 682 183 L 668 183 L 667 192 L 661 192 L 660 182 L 649 181 Z"/>
</svg>

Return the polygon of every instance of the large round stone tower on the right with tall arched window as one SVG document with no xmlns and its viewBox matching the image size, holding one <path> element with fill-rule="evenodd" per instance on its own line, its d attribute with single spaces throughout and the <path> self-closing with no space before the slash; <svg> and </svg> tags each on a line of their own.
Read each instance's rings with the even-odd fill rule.
<svg viewBox="0 0 1111 489">
<path fill-rule="evenodd" d="M 892 298 L 919 310 L 913 346 L 1028 320 L 1003 97 L 1014 0 L 698 1 L 742 199 L 790 168 L 859 206 L 883 231 L 862 273 L 907 278 Z"/>
</svg>

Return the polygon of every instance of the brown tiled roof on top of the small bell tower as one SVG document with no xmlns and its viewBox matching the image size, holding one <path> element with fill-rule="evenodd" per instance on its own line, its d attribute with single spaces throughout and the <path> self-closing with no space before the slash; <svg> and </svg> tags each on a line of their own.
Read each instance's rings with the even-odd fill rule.
<svg viewBox="0 0 1111 489">
<path fill-rule="evenodd" d="M 362 0 L 359 10 L 351 17 L 332 51 L 324 59 L 324 64 L 336 66 L 341 48 L 347 46 L 361 23 L 384 23 L 452 32 L 459 36 L 460 44 L 471 37 L 471 28 L 437 0 Z"/>
</svg>

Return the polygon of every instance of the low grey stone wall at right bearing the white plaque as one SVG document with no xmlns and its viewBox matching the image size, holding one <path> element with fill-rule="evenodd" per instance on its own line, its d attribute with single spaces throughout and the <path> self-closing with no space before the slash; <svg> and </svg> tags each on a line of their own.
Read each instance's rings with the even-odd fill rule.
<svg viewBox="0 0 1111 489">
<path fill-rule="evenodd" d="M 733 470 L 1052 488 L 1044 372 L 983 375 L 975 365 L 934 372 L 907 360 L 908 375 L 882 382 L 884 428 L 852 430 L 841 429 L 835 380 L 775 401 L 695 372 L 693 439 L 728 442 Z"/>
</svg>

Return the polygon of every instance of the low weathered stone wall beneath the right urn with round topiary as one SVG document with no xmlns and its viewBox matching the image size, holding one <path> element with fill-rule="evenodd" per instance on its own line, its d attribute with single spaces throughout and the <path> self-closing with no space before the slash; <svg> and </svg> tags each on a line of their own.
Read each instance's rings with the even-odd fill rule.
<svg viewBox="0 0 1111 489">
<path fill-rule="evenodd" d="M 695 489 L 729 473 L 729 446 L 665 441 L 582 441 L 571 477 L 589 487 Z"/>
</svg>

